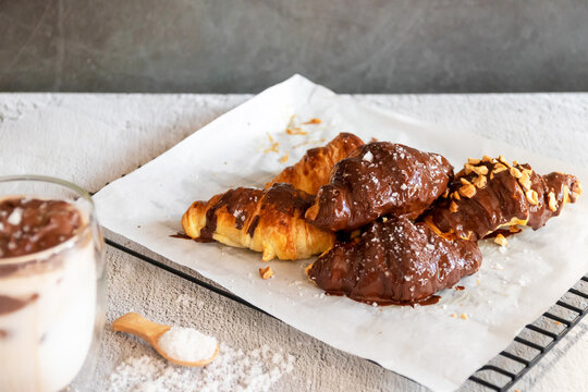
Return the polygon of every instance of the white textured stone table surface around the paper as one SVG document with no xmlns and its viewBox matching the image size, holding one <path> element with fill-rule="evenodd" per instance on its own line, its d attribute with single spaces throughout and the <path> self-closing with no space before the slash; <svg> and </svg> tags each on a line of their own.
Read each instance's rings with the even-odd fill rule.
<svg viewBox="0 0 588 392">
<path fill-rule="evenodd" d="M 249 95 L 0 94 L 0 175 L 59 176 L 97 192 L 248 98 Z M 355 98 L 588 167 L 588 94 Z M 170 262 L 118 235 L 106 235 Z M 252 350 L 267 344 L 290 353 L 296 358 L 294 369 L 272 387 L 274 391 L 426 390 L 126 253 L 110 246 L 106 250 L 107 324 L 88 390 L 106 390 L 109 375 L 121 360 L 149 350 L 140 341 L 110 330 L 113 319 L 132 310 L 160 322 L 195 326 L 232 347 Z M 587 331 L 588 319 L 584 319 L 514 389 L 586 390 Z M 461 390 L 486 389 L 466 382 Z"/>
</svg>

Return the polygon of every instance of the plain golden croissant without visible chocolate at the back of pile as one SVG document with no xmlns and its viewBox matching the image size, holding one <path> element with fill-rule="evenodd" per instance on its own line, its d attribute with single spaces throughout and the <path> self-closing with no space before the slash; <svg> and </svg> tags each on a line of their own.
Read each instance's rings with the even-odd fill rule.
<svg viewBox="0 0 588 392">
<path fill-rule="evenodd" d="M 285 168 L 267 183 L 266 188 L 275 183 L 287 183 L 296 189 L 316 195 L 320 186 L 329 183 L 333 166 L 363 144 L 354 134 L 340 133 L 326 146 L 306 151 L 296 164 Z"/>
</svg>

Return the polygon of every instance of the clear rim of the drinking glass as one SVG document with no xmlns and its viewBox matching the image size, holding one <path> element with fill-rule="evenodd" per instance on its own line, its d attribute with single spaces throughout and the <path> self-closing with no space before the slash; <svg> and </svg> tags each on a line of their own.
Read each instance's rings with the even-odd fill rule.
<svg viewBox="0 0 588 392">
<path fill-rule="evenodd" d="M 82 237 L 83 234 L 85 234 L 88 230 L 91 230 L 91 216 L 94 215 L 95 206 L 94 200 L 91 199 L 90 194 L 84 189 L 83 187 L 69 182 L 66 180 L 61 180 L 48 175 L 37 175 L 37 174 L 19 174 L 19 175 L 3 175 L 0 176 L 0 185 L 2 183 L 9 183 L 9 182 L 39 182 L 39 183 L 50 183 L 59 186 L 63 186 L 65 188 L 69 188 L 76 193 L 79 197 L 84 198 L 86 201 L 90 205 L 90 213 L 88 216 L 87 221 L 85 222 L 84 226 L 79 232 L 77 232 L 75 235 L 73 235 L 71 238 L 59 243 L 54 246 L 51 246 L 50 248 L 35 252 L 27 255 L 21 255 L 21 256 L 12 256 L 12 257 L 0 257 L 0 266 L 5 265 L 17 265 L 17 264 L 26 264 L 28 261 L 32 261 L 34 259 L 38 258 L 47 258 L 51 255 L 61 253 L 65 249 L 72 248 L 77 241 Z M 0 200 L 4 197 L 4 195 L 0 194 Z M 39 195 L 39 197 L 41 197 Z"/>
</svg>

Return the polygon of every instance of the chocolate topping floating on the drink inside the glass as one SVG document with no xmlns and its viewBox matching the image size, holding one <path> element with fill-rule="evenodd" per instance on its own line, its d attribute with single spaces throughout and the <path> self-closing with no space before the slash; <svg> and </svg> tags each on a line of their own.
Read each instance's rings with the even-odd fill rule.
<svg viewBox="0 0 588 392">
<path fill-rule="evenodd" d="M 79 211 L 62 200 L 10 198 L 0 201 L 0 258 L 41 252 L 78 233 Z"/>
</svg>

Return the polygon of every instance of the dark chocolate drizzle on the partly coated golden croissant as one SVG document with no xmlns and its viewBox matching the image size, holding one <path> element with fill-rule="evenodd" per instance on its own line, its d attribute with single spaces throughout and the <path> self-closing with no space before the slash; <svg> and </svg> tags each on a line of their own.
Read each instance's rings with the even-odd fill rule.
<svg viewBox="0 0 588 392">
<path fill-rule="evenodd" d="M 213 241 L 212 235 L 217 229 L 217 211 L 222 207 L 235 217 L 235 228 L 242 230 L 245 222 L 249 221 L 247 234 L 254 236 L 255 229 L 259 223 L 259 212 L 273 209 L 291 217 L 303 218 L 306 209 L 313 204 L 314 196 L 295 189 L 291 184 L 273 184 L 269 189 L 236 188 L 230 189 L 222 195 L 206 212 L 206 225 L 200 230 L 200 236 L 196 241 Z M 258 210 L 258 201 L 261 200 Z"/>
</svg>

